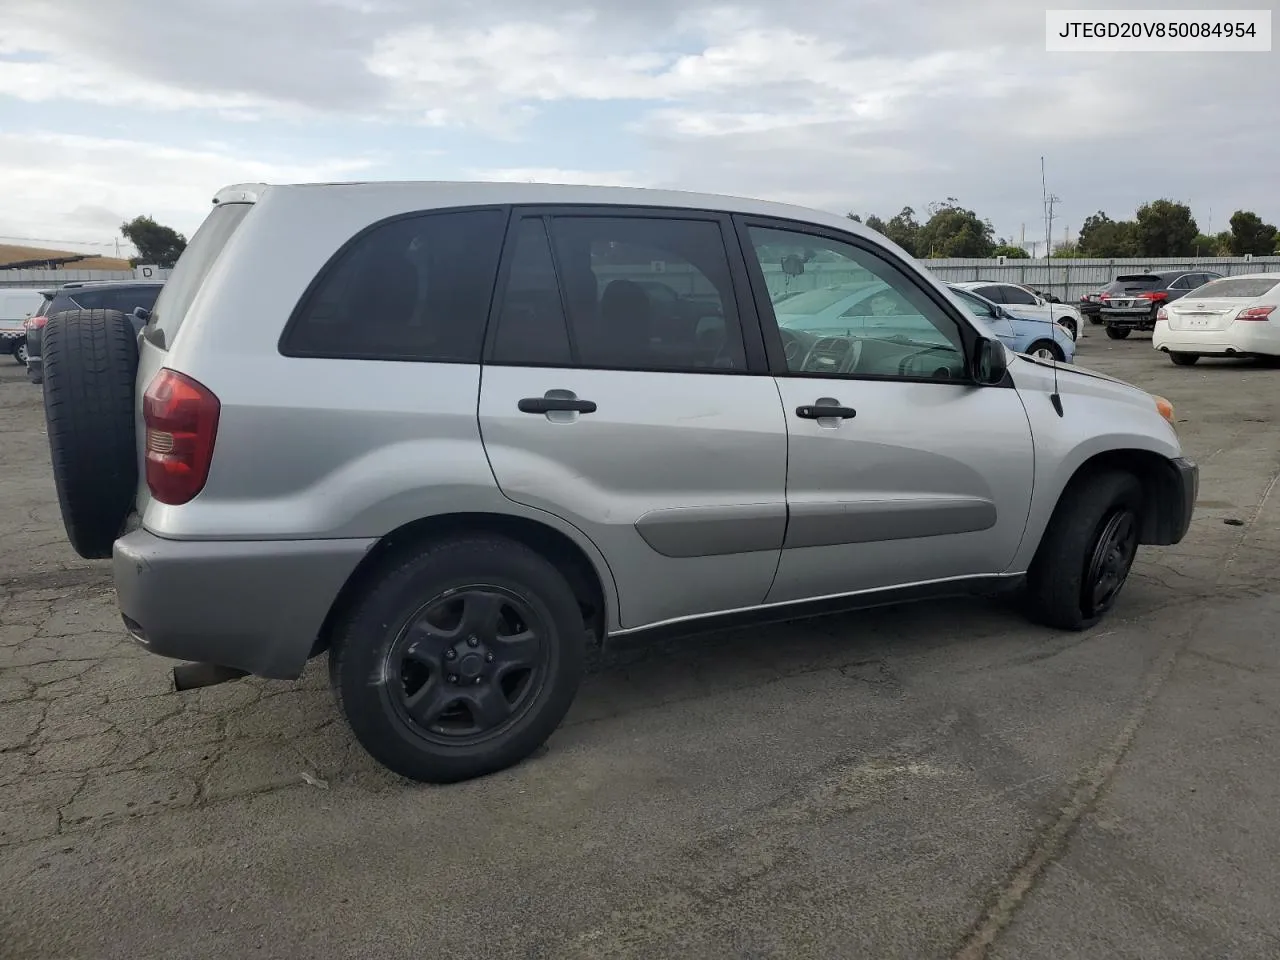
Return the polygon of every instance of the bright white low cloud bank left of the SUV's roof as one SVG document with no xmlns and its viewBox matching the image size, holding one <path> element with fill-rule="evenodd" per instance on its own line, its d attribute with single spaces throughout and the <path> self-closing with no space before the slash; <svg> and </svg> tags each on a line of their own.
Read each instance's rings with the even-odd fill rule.
<svg viewBox="0 0 1280 960">
<path fill-rule="evenodd" d="M 68 133 L 0 133 L 0 234 L 105 243 L 138 214 L 188 237 L 212 191 L 255 180 L 308 182 L 369 170 L 367 157 L 269 163 L 234 154 Z"/>
</svg>

